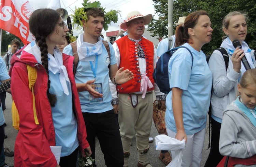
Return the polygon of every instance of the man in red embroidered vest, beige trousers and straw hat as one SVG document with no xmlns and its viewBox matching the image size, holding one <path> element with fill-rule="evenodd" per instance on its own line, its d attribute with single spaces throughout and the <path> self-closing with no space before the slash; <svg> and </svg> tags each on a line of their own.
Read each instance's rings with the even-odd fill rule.
<svg viewBox="0 0 256 167">
<path fill-rule="evenodd" d="M 118 68 L 125 67 L 134 74 L 132 80 L 116 86 L 125 167 L 129 164 L 130 143 L 135 132 L 139 159 L 138 167 L 152 167 L 147 161 L 147 152 L 149 150 L 148 137 L 150 136 L 153 113 L 153 70 L 157 55 L 153 42 L 142 36 L 145 25 L 150 23 L 151 19 L 151 14 L 143 16 L 138 11 L 128 13 L 127 20 L 121 23 L 121 27 L 127 29 L 129 34 L 113 44 Z M 159 88 L 155 94 L 163 95 Z M 159 103 L 164 106 L 165 100 L 159 101 Z"/>
</svg>

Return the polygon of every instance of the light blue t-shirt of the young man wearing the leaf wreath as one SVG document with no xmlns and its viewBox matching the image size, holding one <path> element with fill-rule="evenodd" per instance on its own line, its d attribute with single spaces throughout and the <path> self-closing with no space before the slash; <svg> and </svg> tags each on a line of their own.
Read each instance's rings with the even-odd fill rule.
<svg viewBox="0 0 256 167">
<path fill-rule="evenodd" d="M 89 93 L 87 91 L 79 92 L 79 98 L 81 103 L 82 112 L 90 112 L 90 113 L 102 113 L 109 110 L 112 110 L 113 107 L 111 105 L 112 95 L 109 88 L 109 63 L 113 65 L 116 63 L 115 52 L 112 45 L 109 43 L 111 61 L 109 59 L 108 52 L 104 44 L 101 44 L 102 53 L 98 57 L 98 67 L 96 70 L 96 81 L 95 83 L 102 84 L 102 94 L 103 101 L 102 103 L 94 103 L 90 104 L 89 102 Z M 63 53 L 68 55 L 73 55 L 71 45 L 68 45 L 64 48 Z M 95 56 L 94 56 L 95 57 Z M 92 61 L 93 68 L 95 68 L 95 61 Z M 75 82 L 76 83 L 86 83 L 88 80 L 94 79 L 94 73 L 91 69 L 90 61 L 81 61 L 77 64 L 76 73 L 75 73 Z"/>
</svg>

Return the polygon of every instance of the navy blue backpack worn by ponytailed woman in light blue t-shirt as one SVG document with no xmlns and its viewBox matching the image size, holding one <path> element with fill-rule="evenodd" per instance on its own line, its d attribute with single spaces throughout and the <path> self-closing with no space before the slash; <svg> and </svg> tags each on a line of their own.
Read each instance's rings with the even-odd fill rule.
<svg viewBox="0 0 256 167">
<path fill-rule="evenodd" d="M 154 69 L 154 73 L 153 73 L 154 81 L 162 93 L 168 94 L 171 91 L 170 82 L 169 82 L 168 63 L 174 51 L 176 51 L 179 48 L 185 48 L 189 51 L 192 57 L 192 66 L 193 66 L 193 59 L 194 59 L 193 55 L 191 51 L 186 47 L 183 47 L 183 46 L 176 47 L 163 53 L 161 57 L 158 59 L 156 63 L 156 67 Z M 191 66 L 191 69 L 192 69 L 192 66 Z"/>
</svg>

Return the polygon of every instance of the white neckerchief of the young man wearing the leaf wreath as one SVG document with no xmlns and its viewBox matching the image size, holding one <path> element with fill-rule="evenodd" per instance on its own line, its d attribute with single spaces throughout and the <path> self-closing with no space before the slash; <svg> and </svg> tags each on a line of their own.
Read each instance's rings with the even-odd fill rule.
<svg viewBox="0 0 256 167">
<path fill-rule="evenodd" d="M 91 44 L 84 42 L 84 33 L 80 34 L 77 38 L 77 53 L 80 61 L 95 61 L 96 55 L 102 53 L 102 41 L 98 38 L 98 42 Z"/>
</svg>

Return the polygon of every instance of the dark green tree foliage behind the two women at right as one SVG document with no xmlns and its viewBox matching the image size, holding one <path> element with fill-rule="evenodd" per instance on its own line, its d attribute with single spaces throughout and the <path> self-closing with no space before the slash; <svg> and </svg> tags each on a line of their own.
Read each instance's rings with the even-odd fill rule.
<svg viewBox="0 0 256 167">
<path fill-rule="evenodd" d="M 148 24 L 148 29 L 153 33 L 153 37 L 166 37 L 168 35 L 168 0 L 153 0 L 155 3 L 155 13 L 159 19 L 152 19 Z M 256 3 L 252 0 L 174 0 L 173 1 L 173 26 L 179 17 L 187 16 L 189 13 L 205 10 L 208 12 L 212 22 L 212 40 L 202 48 L 205 54 L 211 54 L 222 43 L 222 21 L 223 18 L 231 11 L 247 13 L 247 36 L 246 43 L 252 49 L 256 49 Z"/>
</svg>

